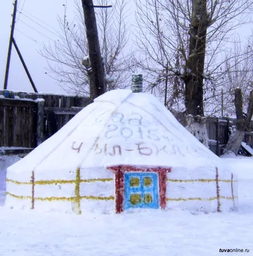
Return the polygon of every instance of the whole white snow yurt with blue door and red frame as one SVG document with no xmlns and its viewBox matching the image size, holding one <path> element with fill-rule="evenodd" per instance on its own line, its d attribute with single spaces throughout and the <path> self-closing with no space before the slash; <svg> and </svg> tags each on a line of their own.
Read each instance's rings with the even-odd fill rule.
<svg viewBox="0 0 253 256">
<path fill-rule="evenodd" d="M 237 183 L 153 95 L 114 90 L 8 168 L 6 205 L 77 214 L 229 211 Z"/>
</svg>

